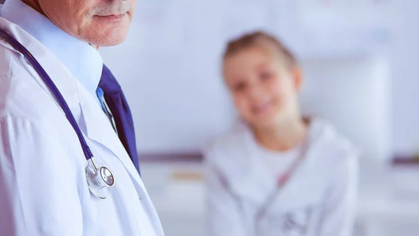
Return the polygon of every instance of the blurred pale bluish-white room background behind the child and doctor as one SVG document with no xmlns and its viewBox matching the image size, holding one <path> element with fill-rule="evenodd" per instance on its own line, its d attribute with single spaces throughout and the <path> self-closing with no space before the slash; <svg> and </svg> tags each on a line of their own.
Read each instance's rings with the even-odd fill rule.
<svg viewBox="0 0 419 236">
<path fill-rule="evenodd" d="M 418 235 L 418 169 L 388 165 L 419 145 L 418 9 L 418 0 L 138 1 L 126 42 L 101 52 L 131 104 L 166 235 L 203 235 L 199 149 L 236 117 L 221 53 L 254 29 L 299 57 L 304 113 L 330 119 L 363 150 L 354 235 Z"/>
</svg>

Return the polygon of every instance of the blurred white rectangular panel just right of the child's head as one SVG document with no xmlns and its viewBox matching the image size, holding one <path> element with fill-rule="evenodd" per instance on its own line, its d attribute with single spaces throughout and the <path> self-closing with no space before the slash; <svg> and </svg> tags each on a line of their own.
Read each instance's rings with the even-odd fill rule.
<svg viewBox="0 0 419 236">
<path fill-rule="evenodd" d="M 363 156 L 389 158 L 391 149 L 390 71 L 376 55 L 304 61 L 302 111 L 332 121 Z"/>
</svg>

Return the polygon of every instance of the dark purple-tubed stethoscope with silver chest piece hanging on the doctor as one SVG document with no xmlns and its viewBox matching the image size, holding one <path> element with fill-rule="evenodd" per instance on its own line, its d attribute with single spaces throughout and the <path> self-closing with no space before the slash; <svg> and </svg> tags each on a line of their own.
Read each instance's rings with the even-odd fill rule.
<svg viewBox="0 0 419 236">
<path fill-rule="evenodd" d="M 80 145 L 82 145 L 83 153 L 87 160 L 87 185 L 89 186 L 91 193 L 101 199 L 107 198 L 110 194 L 110 188 L 115 185 L 115 177 L 109 168 L 104 165 L 97 165 L 95 163 L 93 158 L 94 156 L 91 153 L 86 140 L 83 138 L 82 131 L 80 131 L 80 128 L 75 121 L 70 108 L 68 108 L 66 101 L 55 86 L 54 82 L 52 82 L 50 76 L 47 75 L 41 64 L 36 61 L 35 57 L 27 50 L 26 47 L 17 42 L 15 38 L 10 36 L 10 34 L 8 34 L 3 29 L 0 29 L 0 36 L 4 38 L 8 43 L 10 43 L 10 45 L 12 45 L 15 50 L 23 54 L 24 58 L 29 61 L 29 63 L 34 67 L 36 73 L 38 73 L 39 77 L 41 77 L 43 82 L 45 82 L 47 85 L 48 89 L 50 89 L 54 95 L 54 98 L 57 99 L 61 109 L 64 110 L 64 114 L 66 115 L 68 122 L 70 122 L 71 126 L 74 128 L 75 133 L 77 133 L 78 139 L 80 140 Z"/>
</svg>

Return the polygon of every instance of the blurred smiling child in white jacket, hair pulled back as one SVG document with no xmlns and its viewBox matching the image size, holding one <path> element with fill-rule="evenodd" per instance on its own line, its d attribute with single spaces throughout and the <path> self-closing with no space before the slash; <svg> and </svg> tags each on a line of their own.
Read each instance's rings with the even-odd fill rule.
<svg viewBox="0 0 419 236">
<path fill-rule="evenodd" d="M 332 124 L 300 114 L 293 54 L 247 34 L 228 43 L 223 76 L 241 119 L 205 149 L 208 235 L 351 235 L 357 152 Z"/>
</svg>

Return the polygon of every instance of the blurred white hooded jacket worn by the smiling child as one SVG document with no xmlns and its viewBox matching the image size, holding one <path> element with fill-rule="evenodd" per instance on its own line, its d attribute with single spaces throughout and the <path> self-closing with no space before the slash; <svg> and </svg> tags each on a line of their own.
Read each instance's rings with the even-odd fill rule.
<svg viewBox="0 0 419 236">
<path fill-rule="evenodd" d="M 207 235 L 348 236 L 355 217 L 358 152 L 322 119 L 313 119 L 304 161 L 272 202 L 255 235 L 256 212 L 276 177 L 239 124 L 205 149 Z"/>
</svg>

